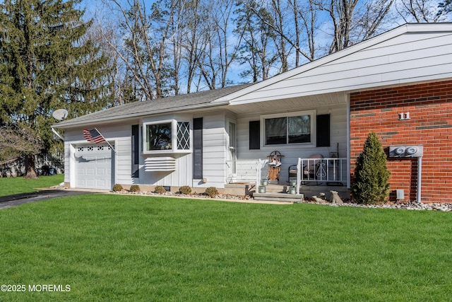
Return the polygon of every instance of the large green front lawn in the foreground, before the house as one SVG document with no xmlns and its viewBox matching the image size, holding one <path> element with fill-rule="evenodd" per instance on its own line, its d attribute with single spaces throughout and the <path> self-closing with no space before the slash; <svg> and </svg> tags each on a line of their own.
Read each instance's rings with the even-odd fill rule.
<svg viewBox="0 0 452 302">
<path fill-rule="evenodd" d="M 0 210 L 0 301 L 452 301 L 452 214 L 93 194 Z"/>
</svg>

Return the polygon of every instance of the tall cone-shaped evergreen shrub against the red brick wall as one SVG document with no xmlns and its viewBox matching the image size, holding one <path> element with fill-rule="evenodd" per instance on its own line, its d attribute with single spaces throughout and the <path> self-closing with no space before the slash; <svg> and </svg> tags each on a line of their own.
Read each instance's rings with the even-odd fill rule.
<svg viewBox="0 0 452 302">
<path fill-rule="evenodd" d="M 369 133 L 364 150 L 356 161 L 351 193 L 359 204 L 381 204 L 389 194 L 389 172 L 386 153 L 374 132 Z"/>
</svg>

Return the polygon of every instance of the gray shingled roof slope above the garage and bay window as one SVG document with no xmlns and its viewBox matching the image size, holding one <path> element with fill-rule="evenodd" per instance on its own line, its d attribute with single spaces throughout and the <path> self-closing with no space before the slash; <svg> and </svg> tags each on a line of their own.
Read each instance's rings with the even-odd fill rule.
<svg viewBox="0 0 452 302">
<path fill-rule="evenodd" d="M 131 117 L 142 117 L 145 115 L 155 115 L 165 112 L 189 110 L 194 108 L 207 108 L 213 100 L 222 98 L 230 93 L 234 93 L 250 86 L 244 84 L 226 88 L 189 93 L 184 95 L 174 95 L 167 98 L 146 100 L 144 102 L 134 102 L 117 107 L 97 111 L 71 120 L 65 120 L 54 124 L 55 128 L 66 128 L 76 125 L 89 124 L 92 122 L 105 122 L 111 120 L 122 120 Z"/>
</svg>

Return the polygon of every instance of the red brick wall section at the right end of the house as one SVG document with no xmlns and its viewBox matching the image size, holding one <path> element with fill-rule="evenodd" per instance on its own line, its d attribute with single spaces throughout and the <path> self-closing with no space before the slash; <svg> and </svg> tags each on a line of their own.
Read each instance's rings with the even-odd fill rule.
<svg viewBox="0 0 452 302">
<path fill-rule="evenodd" d="M 399 113 L 410 112 L 410 120 Z M 369 132 L 383 148 L 423 145 L 422 202 L 452 202 L 452 81 L 363 91 L 350 95 L 350 156 L 355 161 Z M 388 158 L 390 199 L 405 190 L 405 201 L 416 201 L 417 158 Z"/>
</svg>

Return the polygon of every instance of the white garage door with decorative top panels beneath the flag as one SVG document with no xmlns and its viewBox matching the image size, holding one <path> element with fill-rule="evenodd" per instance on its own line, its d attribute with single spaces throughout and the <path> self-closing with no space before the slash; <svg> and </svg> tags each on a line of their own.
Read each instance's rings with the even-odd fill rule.
<svg viewBox="0 0 452 302">
<path fill-rule="evenodd" d="M 112 189 L 114 157 L 108 144 L 76 146 L 76 187 Z"/>
</svg>

